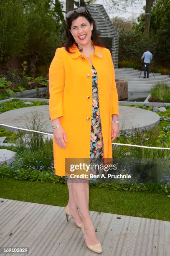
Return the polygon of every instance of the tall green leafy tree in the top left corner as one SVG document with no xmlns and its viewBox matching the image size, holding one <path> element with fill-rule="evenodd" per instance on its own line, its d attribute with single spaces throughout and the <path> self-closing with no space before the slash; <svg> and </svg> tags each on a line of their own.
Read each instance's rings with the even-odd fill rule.
<svg viewBox="0 0 170 256">
<path fill-rule="evenodd" d="M 21 1 L 0 1 L 0 62 L 24 54 L 28 41 L 25 22 Z"/>
</svg>

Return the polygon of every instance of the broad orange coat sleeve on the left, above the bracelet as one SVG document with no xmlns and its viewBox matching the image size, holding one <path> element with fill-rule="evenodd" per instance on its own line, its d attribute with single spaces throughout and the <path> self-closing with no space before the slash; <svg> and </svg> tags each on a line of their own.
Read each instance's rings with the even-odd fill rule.
<svg viewBox="0 0 170 256">
<path fill-rule="evenodd" d="M 64 85 L 65 71 L 62 52 L 60 48 L 57 48 L 49 68 L 49 115 L 51 121 L 63 116 Z"/>
</svg>

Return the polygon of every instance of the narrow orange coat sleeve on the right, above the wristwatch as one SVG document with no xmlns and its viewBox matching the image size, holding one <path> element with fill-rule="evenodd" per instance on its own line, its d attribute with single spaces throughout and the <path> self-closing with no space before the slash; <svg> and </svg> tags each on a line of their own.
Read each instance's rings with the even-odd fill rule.
<svg viewBox="0 0 170 256">
<path fill-rule="evenodd" d="M 114 65 L 112 61 L 112 55 L 109 49 L 108 49 L 108 55 L 109 55 L 109 65 L 112 66 L 112 89 L 111 89 L 112 115 L 113 114 L 119 115 L 119 100 L 118 100 L 118 94 L 117 94 L 117 88 L 116 88 Z"/>
</svg>

